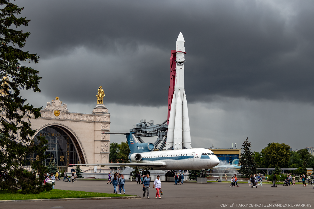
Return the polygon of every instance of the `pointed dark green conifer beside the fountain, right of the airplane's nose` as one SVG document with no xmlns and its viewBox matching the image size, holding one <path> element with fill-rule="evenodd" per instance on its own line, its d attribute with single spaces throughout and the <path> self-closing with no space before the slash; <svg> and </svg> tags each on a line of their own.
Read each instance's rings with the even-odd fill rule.
<svg viewBox="0 0 314 209">
<path fill-rule="evenodd" d="M 251 142 L 249 142 L 248 138 L 243 142 L 241 149 L 243 149 L 243 153 L 241 154 L 240 164 L 241 168 L 239 172 L 242 175 L 246 175 L 248 177 L 250 174 L 257 173 L 257 166 L 254 161 L 253 153 L 250 151 L 252 147 Z"/>
</svg>

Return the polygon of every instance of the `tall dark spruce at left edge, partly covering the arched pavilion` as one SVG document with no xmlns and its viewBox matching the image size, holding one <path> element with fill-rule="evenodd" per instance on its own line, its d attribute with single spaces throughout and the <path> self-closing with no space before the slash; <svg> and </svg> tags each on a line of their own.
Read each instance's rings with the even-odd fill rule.
<svg viewBox="0 0 314 209">
<path fill-rule="evenodd" d="M 21 50 L 30 33 L 15 30 L 14 26 L 28 26 L 30 20 L 16 17 L 21 15 L 23 8 L 12 2 L 0 0 L 0 76 L 7 76 L 0 79 L 0 189 L 11 192 L 22 189 L 23 193 L 37 194 L 44 189 L 49 190 L 49 185 L 42 185 L 46 171 L 42 164 L 46 158 L 43 154 L 46 147 L 43 145 L 47 142 L 45 138 L 38 137 L 40 143 L 33 143 L 31 138 L 36 131 L 31 129 L 29 120 L 30 116 L 41 116 L 41 107 L 33 107 L 19 95 L 22 89 L 40 92 L 39 72 L 20 64 L 38 63 L 39 56 Z M 30 153 L 39 155 L 39 160 L 30 161 L 33 172 L 26 172 L 21 165 Z M 39 179 L 34 178 L 35 171 L 39 172 Z"/>
</svg>

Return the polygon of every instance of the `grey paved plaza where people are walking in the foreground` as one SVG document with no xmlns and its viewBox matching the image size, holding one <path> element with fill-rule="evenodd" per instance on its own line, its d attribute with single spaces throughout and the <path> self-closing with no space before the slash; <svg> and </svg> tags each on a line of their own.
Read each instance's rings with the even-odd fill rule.
<svg viewBox="0 0 314 209">
<path fill-rule="evenodd" d="M 40 201 L 40 202 L 12 202 L 1 203 L 0 208 L 51 208 L 63 206 L 64 208 L 223 208 L 221 204 L 234 204 L 228 208 L 236 207 L 236 204 L 294 204 L 289 208 L 311 208 L 314 207 L 313 186 L 302 185 L 283 186 L 277 184 L 277 188 L 271 188 L 270 184 L 263 187 L 251 188 L 248 184 L 239 184 L 239 187 L 230 187 L 228 183 L 208 183 L 196 184 L 196 182 L 185 182 L 181 185 L 174 185 L 173 182 L 161 182 L 164 194 L 162 199 L 155 199 L 156 190 L 153 189 L 151 182 L 150 199 L 122 199 L 122 200 L 78 200 L 78 201 Z M 107 181 L 102 180 L 78 180 L 77 183 L 57 181 L 56 189 L 77 190 L 90 192 L 112 193 L 113 186 L 107 185 Z M 126 194 L 138 195 L 143 197 L 143 185 L 136 185 L 136 182 L 125 182 Z M 311 204 L 308 207 L 300 207 L 295 204 Z M 268 208 L 279 208 L 277 206 Z M 225 208 L 225 207 L 224 207 Z M 247 206 L 252 208 L 252 206 Z M 259 208 L 259 206 L 254 206 Z"/>
</svg>

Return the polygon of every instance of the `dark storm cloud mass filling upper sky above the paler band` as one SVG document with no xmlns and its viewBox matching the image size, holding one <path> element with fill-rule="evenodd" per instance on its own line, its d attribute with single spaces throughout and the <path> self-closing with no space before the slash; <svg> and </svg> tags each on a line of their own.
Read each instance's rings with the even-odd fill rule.
<svg viewBox="0 0 314 209">
<path fill-rule="evenodd" d="M 34 67 L 46 96 L 91 101 L 104 85 L 110 102 L 165 105 L 170 52 L 182 32 L 189 102 L 314 101 L 311 1 L 17 3 L 32 19 L 25 48 L 41 56 Z"/>
</svg>

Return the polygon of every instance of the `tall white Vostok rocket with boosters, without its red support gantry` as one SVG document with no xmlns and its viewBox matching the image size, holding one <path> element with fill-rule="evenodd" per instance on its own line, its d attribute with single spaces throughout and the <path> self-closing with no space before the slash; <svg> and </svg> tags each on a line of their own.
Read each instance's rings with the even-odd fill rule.
<svg viewBox="0 0 314 209">
<path fill-rule="evenodd" d="M 184 91 L 184 38 L 180 32 L 176 41 L 175 91 L 171 102 L 166 150 L 190 149 L 191 134 L 187 98 Z"/>
</svg>

